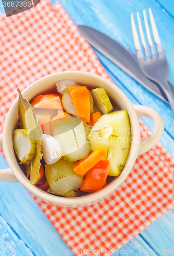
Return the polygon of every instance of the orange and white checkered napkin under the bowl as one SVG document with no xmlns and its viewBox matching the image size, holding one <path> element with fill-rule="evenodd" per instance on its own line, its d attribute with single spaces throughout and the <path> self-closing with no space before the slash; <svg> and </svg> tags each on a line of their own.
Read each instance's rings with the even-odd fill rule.
<svg viewBox="0 0 174 256">
<path fill-rule="evenodd" d="M 59 3 L 41 0 L 18 17 L 2 18 L 0 38 L 1 132 L 17 87 L 23 91 L 38 78 L 66 70 L 110 79 Z M 148 130 L 140 124 L 145 137 Z M 34 199 L 74 252 L 97 255 L 105 249 L 101 255 L 109 255 L 107 250 L 117 250 L 174 205 L 173 170 L 173 159 L 158 143 L 137 158 L 126 181 L 100 203 L 61 208 Z"/>
</svg>

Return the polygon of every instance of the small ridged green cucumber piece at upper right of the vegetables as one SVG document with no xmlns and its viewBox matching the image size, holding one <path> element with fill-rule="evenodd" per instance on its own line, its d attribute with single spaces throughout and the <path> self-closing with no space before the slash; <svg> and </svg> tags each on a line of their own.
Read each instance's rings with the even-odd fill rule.
<svg viewBox="0 0 174 256">
<path fill-rule="evenodd" d="M 94 98 L 94 102 L 103 114 L 107 114 L 108 112 L 113 110 L 111 101 L 103 88 L 96 88 L 93 89 L 91 92 Z"/>
</svg>

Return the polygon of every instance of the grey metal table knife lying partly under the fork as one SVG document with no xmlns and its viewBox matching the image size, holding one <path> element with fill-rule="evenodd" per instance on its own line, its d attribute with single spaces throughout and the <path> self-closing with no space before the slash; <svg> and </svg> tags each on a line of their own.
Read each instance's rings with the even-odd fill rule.
<svg viewBox="0 0 174 256">
<path fill-rule="evenodd" d="M 166 95 L 158 85 L 150 81 L 141 71 L 137 58 L 135 55 L 126 49 L 124 46 L 113 40 L 111 37 L 101 33 L 100 31 L 83 26 L 77 26 L 80 33 L 86 41 L 90 43 L 94 48 L 104 54 L 108 59 L 112 60 L 118 67 L 124 70 L 127 74 L 137 80 L 150 92 L 157 95 L 162 100 L 168 103 Z M 174 87 L 170 82 L 169 86 L 172 94 L 174 95 Z"/>
</svg>

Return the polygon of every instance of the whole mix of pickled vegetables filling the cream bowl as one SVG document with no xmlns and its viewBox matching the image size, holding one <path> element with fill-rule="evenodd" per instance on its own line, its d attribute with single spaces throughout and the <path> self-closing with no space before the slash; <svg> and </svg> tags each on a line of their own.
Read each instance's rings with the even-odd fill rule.
<svg viewBox="0 0 174 256">
<path fill-rule="evenodd" d="M 90 91 L 65 79 L 56 81 L 55 89 L 58 94 L 38 95 L 31 103 L 18 90 L 14 151 L 39 189 L 62 197 L 95 193 L 124 168 L 131 137 L 128 113 L 109 113 L 113 106 L 103 88 Z"/>
</svg>

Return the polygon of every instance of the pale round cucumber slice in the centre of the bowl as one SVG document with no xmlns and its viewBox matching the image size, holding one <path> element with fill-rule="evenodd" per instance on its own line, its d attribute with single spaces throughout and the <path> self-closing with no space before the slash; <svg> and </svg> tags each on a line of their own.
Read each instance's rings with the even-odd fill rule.
<svg viewBox="0 0 174 256">
<path fill-rule="evenodd" d="M 54 127 L 53 137 L 59 141 L 64 159 L 77 161 L 88 156 L 91 150 L 91 144 L 87 138 L 90 131 L 88 124 L 76 118 L 60 121 Z"/>
</svg>

